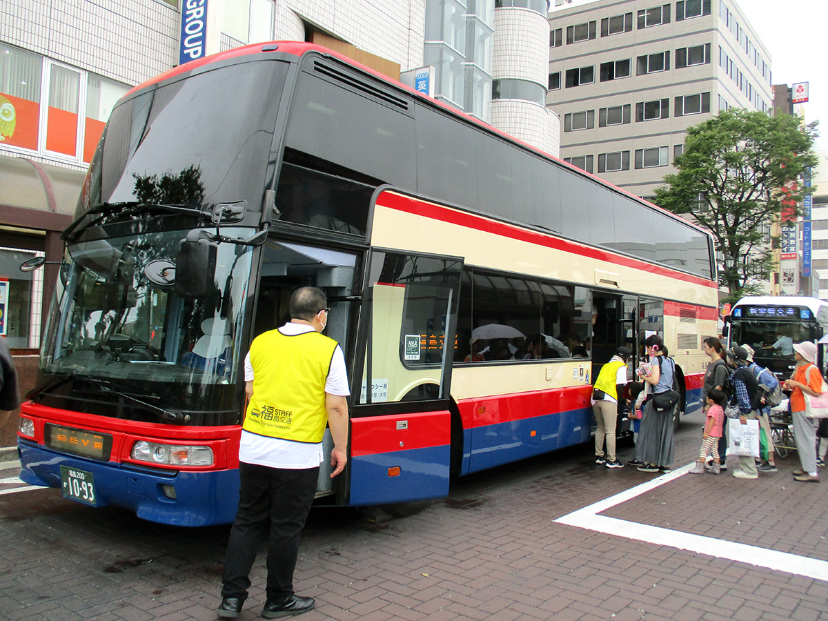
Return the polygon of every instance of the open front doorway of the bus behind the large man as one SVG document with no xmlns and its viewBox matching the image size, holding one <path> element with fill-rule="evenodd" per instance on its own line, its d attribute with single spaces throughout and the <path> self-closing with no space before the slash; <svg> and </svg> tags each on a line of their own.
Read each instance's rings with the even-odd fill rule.
<svg viewBox="0 0 828 621">
<path fill-rule="evenodd" d="M 269 241 L 263 248 L 259 272 L 259 290 L 253 337 L 285 325 L 291 320 L 288 308 L 291 294 L 300 286 L 318 286 L 328 296 L 328 324 L 325 335 L 335 339 L 348 354 L 349 326 L 355 324 L 358 298 L 354 293 L 354 275 L 358 259 L 355 253 L 318 248 L 300 243 Z M 334 442 L 325 430 L 325 460 L 320 466 L 316 496 L 333 491 L 330 479 L 330 452 Z"/>
</svg>

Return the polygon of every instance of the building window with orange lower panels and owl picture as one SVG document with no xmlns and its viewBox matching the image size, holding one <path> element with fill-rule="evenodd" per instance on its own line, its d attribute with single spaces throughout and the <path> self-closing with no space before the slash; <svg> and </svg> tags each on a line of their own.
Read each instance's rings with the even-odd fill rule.
<svg viewBox="0 0 828 621">
<path fill-rule="evenodd" d="M 0 144 L 21 154 L 89 163 L 109 113 L 127 91 L 123 84 L 0 43 Z"/>
</svg>

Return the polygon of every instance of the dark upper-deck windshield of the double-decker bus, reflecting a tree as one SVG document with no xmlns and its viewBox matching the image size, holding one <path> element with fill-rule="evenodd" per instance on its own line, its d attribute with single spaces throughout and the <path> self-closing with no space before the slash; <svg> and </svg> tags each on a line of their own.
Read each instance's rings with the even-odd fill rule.
<svg viewBox="0 0 828 621">
<path fill-rule="evenodd" d="M 249 62 L 145 89 L 113 110 L 79 202 L 262 200 L 286 64 Z"/>
</svg>

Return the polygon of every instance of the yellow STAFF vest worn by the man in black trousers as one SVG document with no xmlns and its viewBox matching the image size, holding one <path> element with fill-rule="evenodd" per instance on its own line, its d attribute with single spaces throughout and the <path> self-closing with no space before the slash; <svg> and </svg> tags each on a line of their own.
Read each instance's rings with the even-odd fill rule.
<svg viewBox="0 0 828 621">
<path fill-rule="evenodd" d="M 321 442 L 328 412 L 325 380 L 337 343 L 318 332 L 283 335 L 269 330 L 253 339 L 253 397 L 243 429 L 259 436 Z"/>
</svg>

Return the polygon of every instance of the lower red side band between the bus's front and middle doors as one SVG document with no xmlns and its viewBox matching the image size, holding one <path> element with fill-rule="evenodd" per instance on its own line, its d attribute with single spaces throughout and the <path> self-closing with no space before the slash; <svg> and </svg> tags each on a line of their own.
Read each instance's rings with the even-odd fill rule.
<svg viewBox="0 0 828 621">
<path fill-rule="evenodd" d="M 464 399 L 457 403 L 464 429 L 522 421 L 590 406 L 592 386 L 572 386 L 510 395 Z M 480 408 L 483 411 L 480 412 Z"/>
</svg>

